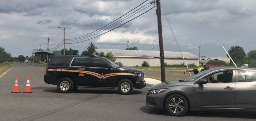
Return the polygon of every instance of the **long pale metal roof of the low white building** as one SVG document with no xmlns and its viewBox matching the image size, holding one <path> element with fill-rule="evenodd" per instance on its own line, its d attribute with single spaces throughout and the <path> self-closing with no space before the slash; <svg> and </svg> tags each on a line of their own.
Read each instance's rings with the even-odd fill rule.
<svg viewBox="0 0 256 121">
<path fill-rule="evenodd" d="M 123 50 L 123 49 L 94 49 L 97 53 L 112 52 L 113 57 L 160 57 L 159 51 L 136 51 L 136 50 Z M 186 59 L 198 59 L 198 56 L 190 52 L 181 52 Z M 164 51 L 165 58 L 182 58 L 180 52 Z"/>
</svg>

